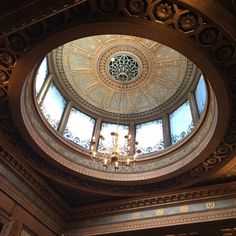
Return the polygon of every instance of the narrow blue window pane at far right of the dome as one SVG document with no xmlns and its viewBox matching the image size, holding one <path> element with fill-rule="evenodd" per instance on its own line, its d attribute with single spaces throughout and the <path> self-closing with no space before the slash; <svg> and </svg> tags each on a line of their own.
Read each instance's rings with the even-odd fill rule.
<svg viewBox="0 0 236 236">
<path fill-rule="evenodd" d="M 197 88 L 195 90 L 195 97 L 199 114 L 201 114 L 206 104 L 206 84 L 203 79 L 203 76 L 201 76 L 198 81 Z"/>
</svg>

